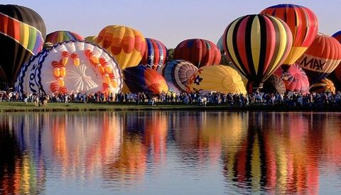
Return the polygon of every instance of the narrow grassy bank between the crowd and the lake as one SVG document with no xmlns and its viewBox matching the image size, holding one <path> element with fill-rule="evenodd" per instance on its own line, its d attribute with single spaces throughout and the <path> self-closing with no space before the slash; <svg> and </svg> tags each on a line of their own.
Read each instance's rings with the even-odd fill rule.
<svg viewBox="0 0 341 195">
<path fill-rule="evenodd" d="M 47 106 L 36 107 L 33 103 L 23 104 L 23 102 L 0 102 L 0 112 L 36 112 L 36 111 L 152 111 L 152 110 L 186 110 L 186 111 L 341 111 L 340 106 L 328 107 L 288 107 L 288 106 L 216 106 L 207 105 L 184 105 L 184 104 L 158 104 L 150 106 L 146 103 L 137 105 L 136 103 L 54 103 L 49 102 Z"/>
</svg>

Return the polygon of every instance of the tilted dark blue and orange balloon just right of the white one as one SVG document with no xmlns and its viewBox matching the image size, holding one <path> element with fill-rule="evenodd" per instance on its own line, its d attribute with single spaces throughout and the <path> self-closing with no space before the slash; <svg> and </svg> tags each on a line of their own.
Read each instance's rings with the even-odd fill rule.
<svg viewBox="0 0 341 195">
<path fill-rule="evenodd" d="M 123 69 L 123 75 L 126 86 L 133 93 L 161 94 L 168 91 L 166 80 L 154 69 L 141 65 L 128 67 Z"/>
</svg>

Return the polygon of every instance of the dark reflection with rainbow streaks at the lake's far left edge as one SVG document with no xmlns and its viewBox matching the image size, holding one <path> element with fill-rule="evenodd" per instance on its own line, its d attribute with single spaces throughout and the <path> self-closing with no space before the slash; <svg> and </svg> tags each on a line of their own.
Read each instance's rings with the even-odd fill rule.
<svg viewBox="0 0 341 195">
<path fill-rule="evenodd" d="M 37 115 L 0 117 L 0 194 L 44 194 L 46 168 L 40 155 L 40 131 L 35 131 L 37 127 L 40 127 Z M 23 139 L 23 136 L 31 138 L 31 141 Z"/>
</svg>

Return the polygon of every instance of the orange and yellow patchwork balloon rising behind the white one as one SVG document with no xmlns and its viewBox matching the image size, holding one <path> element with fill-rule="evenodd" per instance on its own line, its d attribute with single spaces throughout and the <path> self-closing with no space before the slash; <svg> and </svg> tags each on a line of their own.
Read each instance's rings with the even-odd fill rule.
<svg viewBox="0 0 341 195">
<path fill-rule="evenodd" d="M 139 65 L 146 50 L 144 35 L 126 26 L 114 25 L 103 28 L 95 42 L 115 57 L 121 69 Z"/>
</svg>

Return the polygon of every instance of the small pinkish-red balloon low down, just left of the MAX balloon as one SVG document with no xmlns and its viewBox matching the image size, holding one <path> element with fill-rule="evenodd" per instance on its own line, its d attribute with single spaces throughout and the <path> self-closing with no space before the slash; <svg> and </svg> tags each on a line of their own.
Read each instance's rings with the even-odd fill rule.
<svg viewBox="0 0 341 195">
<path fill-rule="evenodd" d="M 281 77 L 286 84 L 286 91 L 306 93 L 309 91 L 309 79 L 304 70 L 297 64 L 293 64 L 288 69 L 278 68 L 274 74 Z"/>
</svg>

